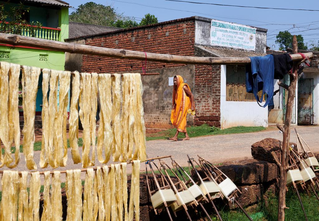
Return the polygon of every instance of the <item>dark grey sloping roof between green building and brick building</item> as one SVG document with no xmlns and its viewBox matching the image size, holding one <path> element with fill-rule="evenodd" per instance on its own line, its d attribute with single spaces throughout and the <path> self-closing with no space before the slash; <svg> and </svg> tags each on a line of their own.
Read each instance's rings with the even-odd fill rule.
<svg viewBox="0 0 319 221">
<path fill-rule="evenodd" d="M 100 34 L 105 32 L 113 32 L 122 28 L 115 28 L 102 25 L 90 25 L 78 22 L 69 22 L 69 39 L 81 36 Z"/>
</svg>

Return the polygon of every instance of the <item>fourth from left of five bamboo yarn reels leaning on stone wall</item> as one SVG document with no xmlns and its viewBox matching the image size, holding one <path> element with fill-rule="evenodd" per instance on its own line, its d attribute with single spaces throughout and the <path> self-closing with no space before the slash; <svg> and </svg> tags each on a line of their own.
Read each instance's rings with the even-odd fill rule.
<svg viewBox="0 0 319 221">
<path fill-rule="evenodd" d="M 207 218 L 211 220 L 211 217 L 209 216 L 209 214 L 207 213 L 207 211 L 205 210 L 203 206 L 203 203 L 209 203 L 209 199 L 205 196 L 206 194 L 204 194 L 202 189 L 197 185 L 197 183 L 192 179 L 192 177 L 186 173 L 186 171 L 181 167 L 181 165 L 179 165 L 172 157 L 171 157 L 171 160 L 172 160 L 172 165 L 173 165 L 175 173 L 179 174 L 182 177 L 184 183 L 187 185 L 191 194 L 198 201 L 200 207 L 206 214 Z M 218 210 L 216 209 L 215 211 L 220 217 Z"/>
</svg>

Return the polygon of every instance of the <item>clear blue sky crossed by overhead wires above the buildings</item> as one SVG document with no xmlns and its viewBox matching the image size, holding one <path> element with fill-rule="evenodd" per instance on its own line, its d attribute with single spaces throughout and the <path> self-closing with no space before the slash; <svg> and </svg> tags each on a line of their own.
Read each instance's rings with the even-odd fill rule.
<svg viewBox="0 0 319 221">
<path fill-rule="evenodd" d="M 87 0 L 66 0 L 71 6 L 77 8 L 85 4 Z M 216 4 L 232 4 L 256 7 L 273 8 L 297 8 L 319 10 L 318 0 L 304 1 L 234 1 L 234 0 L 192 0 L 193 2 L 206 2 Z M 134 17 L 137 22 L 150 13 L 155 15 L 159 21 L 168 21 L 190 16 L 202 16 L 222 21 L 234 22 L 243 25 L 251 25 L 268 29 L 267 45 L 278 50 L 275 43 L 276 34 L 279 31 L 289 30 L 292 34 L 302 34 L 305 42 L 319 40 L 319 11 L 292 11 L 274 9 L 239 8 L 229 6 L 190 4 L 182 2 L 170 2 L 165 0 L 94 0 L 93 2 L 112 5 L 117 12 L 124 16 Z M 133 4 L 134 3 L 134 4 Z M 156 8 L 157 7 L 157 8 Z M 166 9 L 164 9 L 166 8 Z M 180 11 L 178 11 L 180 10 Z M 70 12 L 74 10 L 70 9 Z M 309 30 L 312 29 L 312 30 Z M 275 45 L 275 46 L 272 46 Z"/>
</svg>

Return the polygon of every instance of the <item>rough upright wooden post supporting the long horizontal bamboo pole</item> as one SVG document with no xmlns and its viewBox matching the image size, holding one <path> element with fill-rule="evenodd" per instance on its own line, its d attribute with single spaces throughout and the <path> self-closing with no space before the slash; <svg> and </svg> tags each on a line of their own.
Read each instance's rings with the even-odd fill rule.
<svg viewBox="0 0 319 221">
<path fill-rule="evenodd" d="M 293 53 L 298 53 L 298 42 L 296 35 L 293 36 Z M 288 87 L 288 101 L 286 108 L 285 125 L 282 129 L 283 132 L 283 148 L 281 155 L 281 167 L 279 178 L 279 202 L 278 202 L 278 221 L 285 221 L 285 209 L 286 209 L 286 180 L 288 171 L 288 158 L 289 158 L 289 141 L 290 141 L 290 124 L 291 124 L 291 112 L 293 110 L 293 100 L 295 97 L 296 83 L 298 80 L 298 61 L 293 62 L 293 71 L 290 76 L 290 85 Z M 279 125 L 278 125 L 279 126 Z"/>
</svg>

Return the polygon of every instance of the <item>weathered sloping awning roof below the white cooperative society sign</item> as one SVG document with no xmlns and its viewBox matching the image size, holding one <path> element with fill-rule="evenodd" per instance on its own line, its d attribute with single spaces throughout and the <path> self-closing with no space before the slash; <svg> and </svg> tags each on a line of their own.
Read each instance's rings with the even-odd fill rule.
<svg viewBox="0 0 319 221">
<path fill-rule="evenodd" d="M 226 49 L 226 48 L 219 48 L 219 47 L 211 47 L 211 46 L 196 46 L 204 51 L 207 51 L 217 57 L 253 57 L 253 56 L 264 56 L 266 53 L 256 53 L 252 51 L 241 51 L 241 50 L 234 50 L 234 49 Z"/>
</svg>

